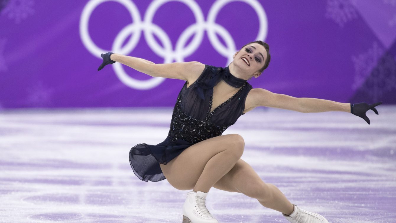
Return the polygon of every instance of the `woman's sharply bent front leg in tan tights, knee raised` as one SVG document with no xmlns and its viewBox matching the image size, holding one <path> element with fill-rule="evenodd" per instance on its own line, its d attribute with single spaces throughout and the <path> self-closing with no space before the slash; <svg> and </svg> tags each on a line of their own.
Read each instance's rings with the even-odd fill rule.
<svg viewBox="0 0 396 223">
<path fill-rule="evenodd" d="M 238 134 L 221 135 L 188 147 L 160 167 L 176 189 L 208 192 L 234 167 L 243 154 L 244 146 L 244 140 Z"/>
</svg>

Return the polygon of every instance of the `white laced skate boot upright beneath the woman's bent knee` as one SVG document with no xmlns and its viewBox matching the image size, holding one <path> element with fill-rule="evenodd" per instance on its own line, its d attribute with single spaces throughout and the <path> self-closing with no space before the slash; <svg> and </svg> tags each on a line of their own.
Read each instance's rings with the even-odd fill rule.
<svg viewBox="0 0 396 223">
<path fill-rule="evenodd" d="M 183 204 L 183 223 L 219 223 L 205 205 L 207 193 L 190 191 Z"/>
</svg>

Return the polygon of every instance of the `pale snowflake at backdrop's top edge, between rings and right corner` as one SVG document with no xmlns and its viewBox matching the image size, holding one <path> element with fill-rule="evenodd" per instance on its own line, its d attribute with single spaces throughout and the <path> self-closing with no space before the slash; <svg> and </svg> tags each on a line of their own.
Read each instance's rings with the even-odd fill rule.
<svg viewBox="0 0 396 223">
<path fill-rule="evenodd" d="M 355 19 L 358 14 L 350 0 L 327 0 L 325 16 L 343 27 L 346 22 Z"/>
</svg>

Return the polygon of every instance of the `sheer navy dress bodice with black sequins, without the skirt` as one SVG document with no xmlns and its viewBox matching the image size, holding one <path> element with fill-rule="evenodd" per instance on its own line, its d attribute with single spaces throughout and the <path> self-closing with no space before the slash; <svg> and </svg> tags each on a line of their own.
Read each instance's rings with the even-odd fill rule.
<svg viewBox="0 0 396 223">
<path fill-rule="evenodd" d="M 206 65 L 196 82 L 206 77 L 208 67 L 213 66 Z M 173 142 L 183 139 L 195 144 L 221 135 L 243 114 L 244 99 L 251 89 L 251 85 L 246 82 L 238 92 L 210 112 L 213 103 L 213 88 L 205 92 L 205 100 L 199 99 L 194 92 L 190 91 L 191 86 L 196 82 L 189 87 L 186 82 L 177 97 L 168 133 L 168 137 Z M 185 110 L 190 114 L 187 114 Z"/>
</svg>

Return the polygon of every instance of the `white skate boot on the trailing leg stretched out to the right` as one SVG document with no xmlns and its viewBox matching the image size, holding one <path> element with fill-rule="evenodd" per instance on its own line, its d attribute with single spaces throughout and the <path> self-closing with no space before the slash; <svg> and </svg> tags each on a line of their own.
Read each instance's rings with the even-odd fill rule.
<svg viewBox="0 0 396 223">
<path fill-rule="evenodd" d="M 303 210 L 297 205 L 293 204 L 294 211 L 290 215 L 283 214 L 287 220 L 292 223 L 329 223 L 326 218 L 321 216 L 320 214 L 316 214 L 313 212 L 308 212 Z"/>
</svg>

